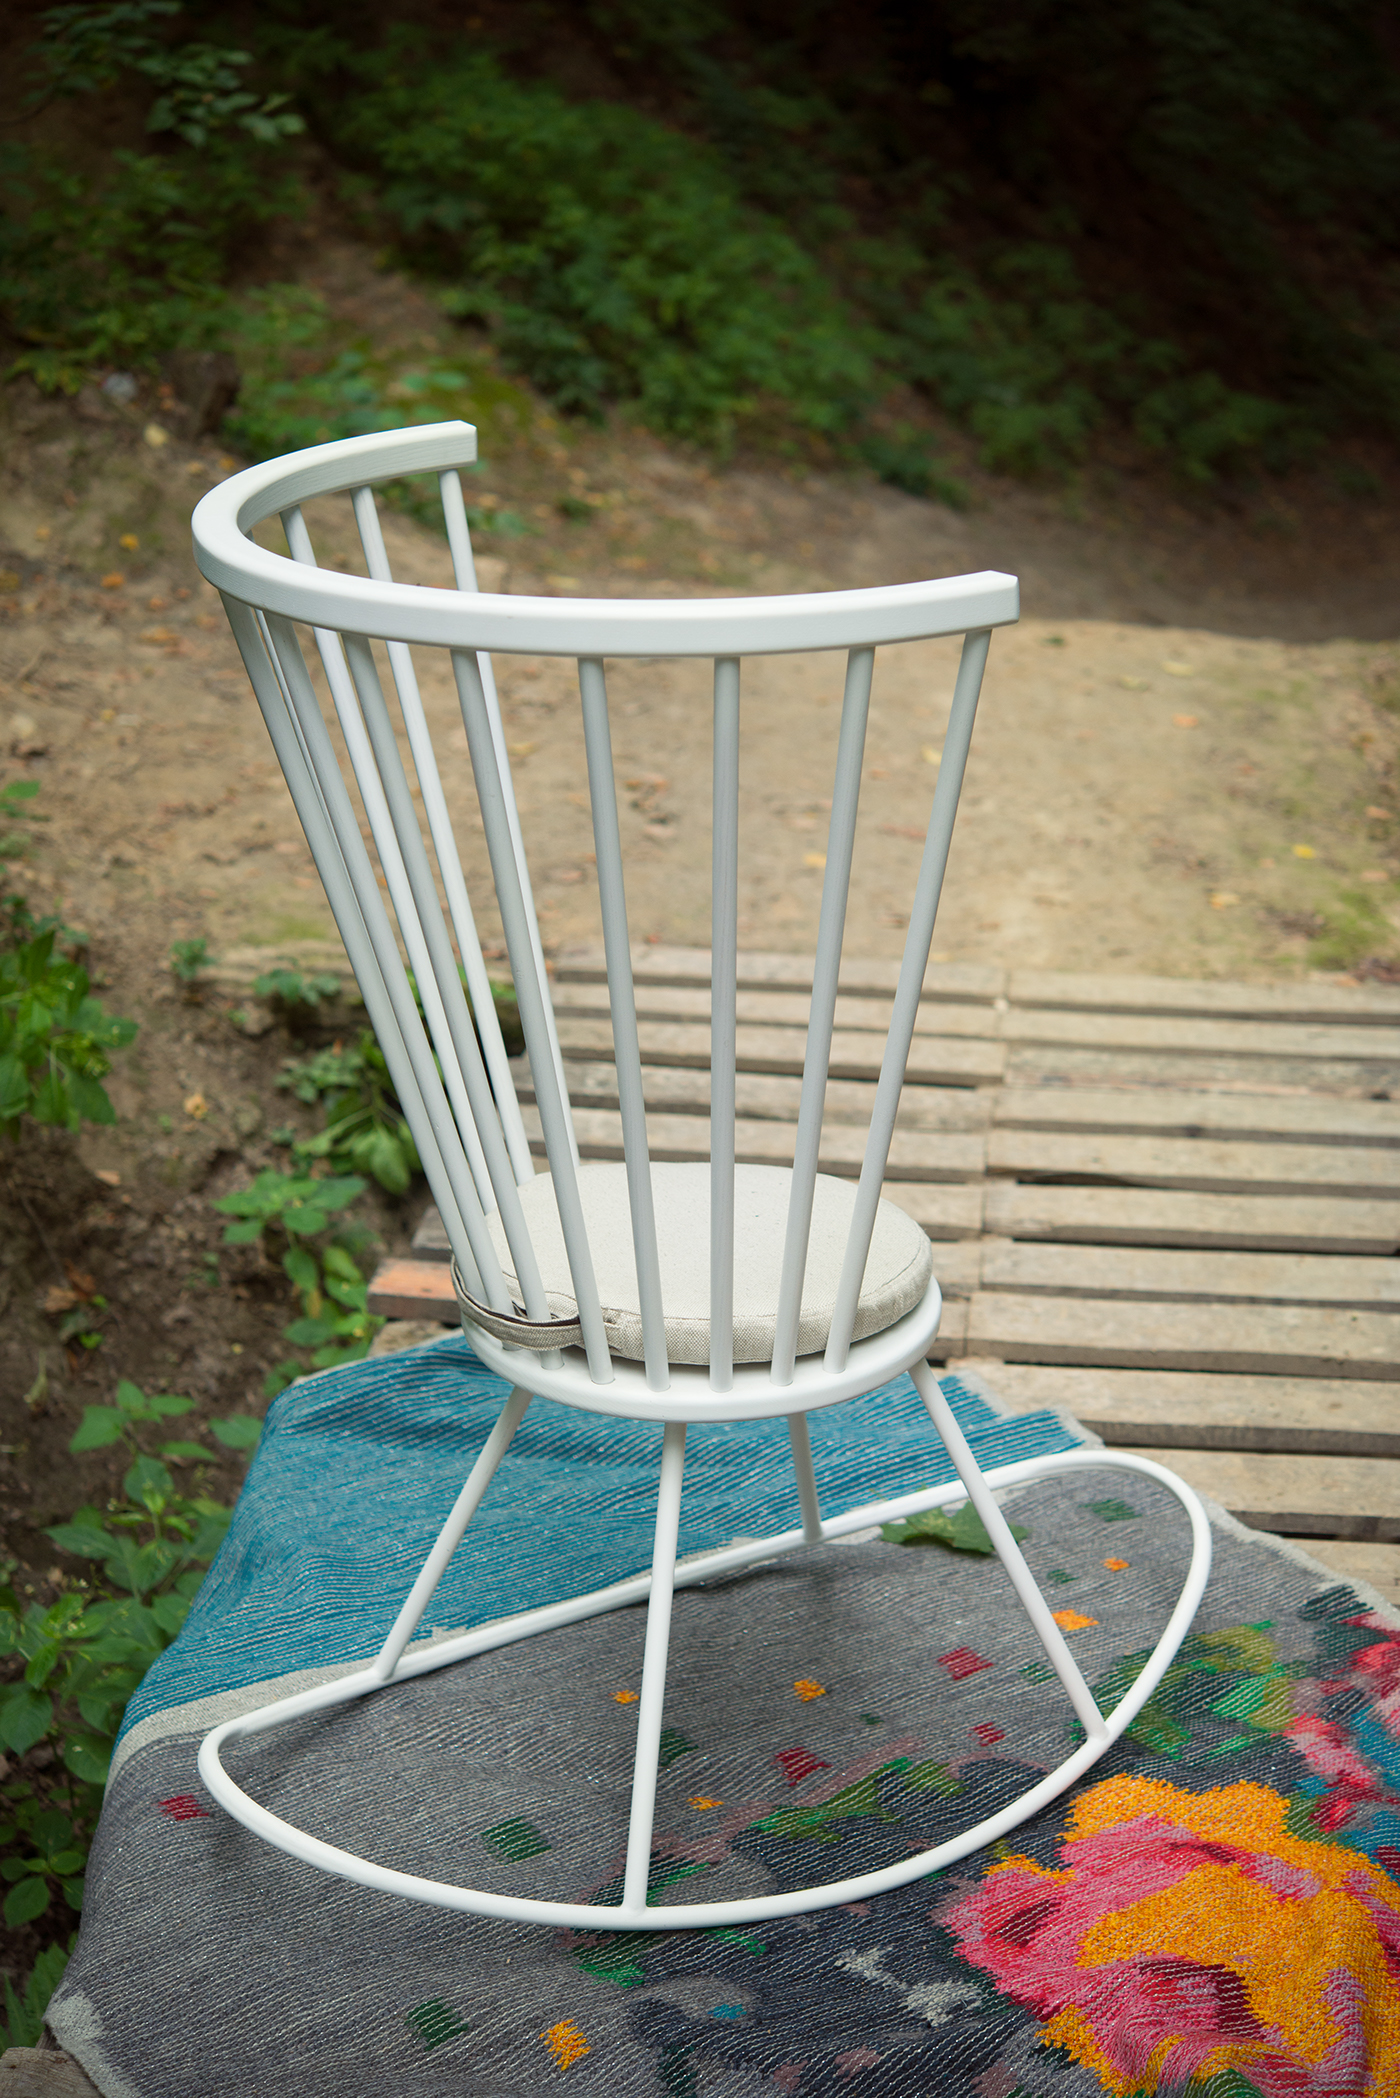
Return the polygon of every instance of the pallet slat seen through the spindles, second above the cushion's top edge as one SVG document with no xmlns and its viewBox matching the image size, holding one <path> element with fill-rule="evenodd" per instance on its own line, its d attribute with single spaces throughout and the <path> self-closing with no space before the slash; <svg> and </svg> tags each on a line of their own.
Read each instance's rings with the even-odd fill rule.
<svg viewBox="0 0 1400 2098">
<path fill-rule="evenodd" d="M 518 1059 L 516 1093 L 521 1104 L 535 1099 L 535 1089 Z M 615 1064 L 571 1057 L 565 1066 L 569 1074 L 569 1099 L 575 1106 L 615 1108 L 617 1068 Z M 709 1068 L 686 1068 L 678 1064 L 644 1064 L 642 1093 L 646 1108 L 672 1114 L 709 1114 Z M 745 1120 L 796 1122 L 802 1101 L 802 1080 L 785 1078 L 779 1072 L 741 1070 L 735 1083 L 735 1112 Z M 942 1087 L 907 1085 L 898 1104 L 900 1129 L 987 1129 L 993 1093 L 987 1087 Z M 875 1087 L 863 1078 L 827 1080 L 827 1122 L 852 1122 L 869 1127 Z"/>
</svg>

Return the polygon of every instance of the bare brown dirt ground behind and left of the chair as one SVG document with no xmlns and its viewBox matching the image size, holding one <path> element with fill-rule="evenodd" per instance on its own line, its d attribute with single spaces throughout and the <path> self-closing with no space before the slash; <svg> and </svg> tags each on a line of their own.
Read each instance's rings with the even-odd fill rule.
<svg viewBox="0 0 1400 2098">
<path fill-rule="evenodd" d="M 437 342 L 441 317 L 363 256 L 323 260 L 346 327 Z M 437 329 L 437 334 L 432 334 Z M 418 331 L 418 334 L 416 334 Z M 516 405 L 523 397 L 510 397 Z M 36 908 L 92 942 L 113 1011 L 141 1022 L 120 1120 L 34 1133 L 0 1160 L 0 1513 L 42 1586 L 44 1523 L 115 1485 L 73 1460 L 80 1408 L 118 1376 L 187 1391 L 195 1422 L 262 1406 L 285 1349 L 285 1280 L 220 1250 L 210 1200 L 285 1160 L 275 1087 L 306 1043 L 250 997 L 260 965 L 334 963 L 334 927 L 220 606 L 189 558 L 193 499 L 237 462 L 183 443 L 170 401 L 4 392 L 0 776 L 36 778 L 48 822 L 13 869 Z M 162 422 L 162 415 L 166 418 Z M 1369 506 L 1322 478 L 1207 508 L 1119 474 L 1073 491 L 978 476 L 968 512 L 810 468 L 663 449 L 623 426 L 485 418 L 483 581 L 514 594 L 676 596 L 907 581 L 982 566 L 1022 577 L 1022 625 L 993 642 L 936 952 L 1056 969 L 1287 976 L 1318 957 L 1394 971 L 1400 950 L 1400 491 Z M 560 497 L 565 506 L 560 510 Z M 323 558 L 359 566 L 344 516 L 311 516 Z M 386 516 L 395 571 L 445 581 L 445 545 Z M 884 650 L 863 783 L 848 942 L 894 955 L 928 820 L 953 650 Z M 497 661 L 544 938 L 596 934 L 571 667 Z M 424 663 L 468 875 L 485 852 L 455 699 Z M 741 938 L 810 948 L 840 701 L 833 657 L 745 682 Z M 705 673 L 611 676 L 638 938 L 707 940 Z M 483 911 L 487 938 L 491 913 Z M 220 959 L 199 1003 L 174 940 Z M 1331 942 L 1331 944 L 1329 944 Z M 351 1003 L 313 1036 L 359 1024 Z M 420 1200 L 376 1200 L 386 1248 Z M 57 1294 L 105 1297 L 101 1347 L 57 1341 Z M 225 1462 L 210 1483 L 231 1490 Z"/>
</svg>

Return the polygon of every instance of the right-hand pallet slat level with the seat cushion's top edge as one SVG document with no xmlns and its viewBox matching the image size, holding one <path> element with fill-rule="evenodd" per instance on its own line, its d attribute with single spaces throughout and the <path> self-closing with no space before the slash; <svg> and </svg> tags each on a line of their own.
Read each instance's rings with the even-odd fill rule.
<svg viewBox="0 0 1400 2098">
<path fill-rule="evenodd" d="M 1219 1194 L 1396 1196 L 1400 1160 L 1377 1146 L 1222 1143 L 1213 1137 L 1102 1137 L 993 1129 L 987 1171 L 1026 1179 L 1117 1181 Z"/>
</svg>

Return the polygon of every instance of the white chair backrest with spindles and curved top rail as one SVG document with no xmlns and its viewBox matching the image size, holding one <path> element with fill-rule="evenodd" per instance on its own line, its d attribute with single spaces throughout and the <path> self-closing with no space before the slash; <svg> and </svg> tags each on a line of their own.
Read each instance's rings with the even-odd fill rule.
<svg viewBox="0 0 1400 2098">
<path fill-rule="evenodd" d="M 846 650 L 846 690 L 770 1372 L 783 1385 L 793 1376 L 875 646 L 963 636 L 827 1343 L 827 1364 L 840 1370 L 850 1349 L 991 629 L 1018 617 L 1016 579 L 982 573 L 821 596 L 670 602 L 487 596 L 476 592 L 458 478 L 458 468 L 474 457 L 476 432 L 470 424 L 453 422 L 346 438 L 248 468 L 212 489 L 195 510 L 195 558 L 222 594 L 462 1273 L 472 1294 L 495 1311 L 512 1311 L 510 1286 L 487 1227 L 487 1217 L 500 1213 L 525 1313 L 529 1320 L 548 1320 L 539 1267 L 518 1200 L 518 1185 L 535 1166 L 495 1018 L 411 648 L 441 648 L 449 655 L 588 1370 L 598 1385 L 613 1380 L 613 1366 L 584 1227 L 579 1152 L 491 650 L 563 655 L 577 661 L 644 1366 L 653 1391 L 667 1389 L 670 1370 L 604 659 L 709 657 L 714 661 L 709 1380 L 716 1391 L 728 1391 L 735 1273 L 741 661 L 745 655 Z M 439 478 L 455 590 L 397 583 L 390 577 L 374 483 L 424 472 L 434 472 Z M 300 506 L 311 497 L 336 493 L 351 497 L 367 577 L 317 566 Z M 269 516 L 281 518 L 290 558 L 267 552 L 250 537 L 252 527 Z M 340 728 L 340 749 L 317 697 L 298 625 L 311 627 L 315 657 Z M 409 785 L 399 726 L 372 642 L 382 642 L 386 648 L 397 715 L 418 789 Z M 359 797 L 359 812 L 351 785 Z M 416 799 L 422 801 L 422 814 Z"/>
</svg>

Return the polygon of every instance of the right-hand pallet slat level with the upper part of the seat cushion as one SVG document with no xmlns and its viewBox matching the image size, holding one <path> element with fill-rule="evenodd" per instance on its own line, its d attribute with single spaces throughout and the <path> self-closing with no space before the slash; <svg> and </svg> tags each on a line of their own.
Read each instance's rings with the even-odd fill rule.
<svg viewBox="0 0 1400 2098">
<path fill-rule="evenodd" d="M 987 1229 L 1098 1246 L 1387 1255 L 1400 1248 L 1400 1202 L 989 1181 Z"/>
</svg>

